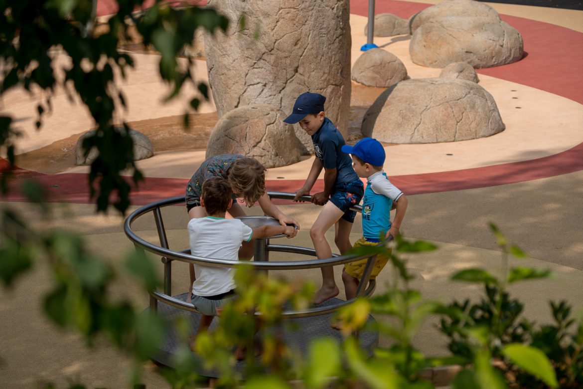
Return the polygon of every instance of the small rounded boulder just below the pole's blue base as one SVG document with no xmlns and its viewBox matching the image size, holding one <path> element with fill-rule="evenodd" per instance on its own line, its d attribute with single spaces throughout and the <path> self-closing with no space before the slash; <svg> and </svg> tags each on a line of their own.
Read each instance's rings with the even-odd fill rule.
<svg viewBox="0 0 583 389">
<path fill-rule="evenodd" d="M 363 52 L 352 66 L 352 79 L 366 86 L 389 87 L 406 78 L 401 59 L 382 48 Z"/>
</svg>

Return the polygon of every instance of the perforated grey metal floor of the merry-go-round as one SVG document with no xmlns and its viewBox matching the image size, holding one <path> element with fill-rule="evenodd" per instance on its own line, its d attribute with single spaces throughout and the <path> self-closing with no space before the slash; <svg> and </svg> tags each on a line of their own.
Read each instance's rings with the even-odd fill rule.
<svg viewBox="0 0 583 389">
<path fill-rule="evenodd" d="M 183 295 L 175 296 L 175 298 L 185 301 L 186 296 L 187 294 L 184 293 Z M 339 299 L 329 299 L 324 303 L 319 304 L 318 306 L 328 306 L 339 302 Z M 148 308 L 144 310 L 143 313 L 149 314 L 149 310 L 150 309 Z M 160 302 L 158 304 L 158 314 L 170 321 L 176 317 L 185 317 L 187 318 L 188 323 L 192 326 L 192 328 L 198 328 L 198 322 L 200 318 L 199 313 L 181 310 Z M 305 355 L 308 345 L 315 338 L 330 337 L 333 339 L 341 340 L 342 335 L 340 334 L 340 331 L 337 331 L 330 326 L 331 317 L 332 314 L 324 314 L 319 316 L 289 319 L 289 325 L 285 325 L 284 328 L 284 339 L 287 346 L 289 346 L 292 350 L 299 351 L 302 355 Z M 369 323 L 372 323 L 374 322 L 374 318 L 369 316 L 368 321 Z M 210 327 L 211 331 L 216 324 L 217 320 L 215 319 L 213 320 L 213 324 Z M 152 360 L 155 362 L 160 363 L 161 365 L 175 368 L 176 366 L 173 366 L 173 356 L 177 352 L 178 342 L 181 342 L 180 338 L 178 338 L 174 332 L 170 332 L 170 334 L 168 334 L 168 338 L 166 339 L 166 343 L 155 355 L 151 355 L 150 358 L 152 358 Z M 360 348 L 363 349 L 368 355 L 372 355 L 374 348 L 378 345 L 378 332 L 361 332 L 359 337 L 359 344 Z M 201 362 L 203 361 L 201 360 Z M 241 372 L 243 372 L 245 367 L 244 363 L 244 361 L 238 361 L 235 365 L 236 369 L 240 369 Z M 197 365 L 202 366 L 203 364 L 199 363 Z M 211 370 L 204 370 L 202 367 L 199 369 L 200 370 L 196 373 L 199 373 L 202 376 L 218 377 L 216 372 Z"/>
</svg>

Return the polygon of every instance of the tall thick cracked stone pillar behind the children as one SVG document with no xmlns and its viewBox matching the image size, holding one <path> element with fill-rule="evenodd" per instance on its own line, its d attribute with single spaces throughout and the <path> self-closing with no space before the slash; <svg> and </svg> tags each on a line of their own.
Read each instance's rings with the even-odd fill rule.
<svg viewBox="0 0 583 389">
<path fill-rule="evenodd" d="M 219 118 L 258 103 L 291 113 L 297 96 L 309 91 L 327 97 L 326 116 L 347 136 L 349 0 L 209 0 L 208 5 L 231 21 L 227 33 L 205 42 Z"/>
</svg>

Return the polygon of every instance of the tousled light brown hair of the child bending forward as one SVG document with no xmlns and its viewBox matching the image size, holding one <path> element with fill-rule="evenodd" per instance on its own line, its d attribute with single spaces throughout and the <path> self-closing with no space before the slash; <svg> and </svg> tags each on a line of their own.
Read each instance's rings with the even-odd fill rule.
<svg viewBox="0 0 583 389">
<path fill-rule="evenodd" d="M 265 194 L 265 167 L 258 160 L 245 157 L 234 160 L 229 168 L 227 181 L 237 197 L 243 197 L 252 206 Z"/>
</svg>

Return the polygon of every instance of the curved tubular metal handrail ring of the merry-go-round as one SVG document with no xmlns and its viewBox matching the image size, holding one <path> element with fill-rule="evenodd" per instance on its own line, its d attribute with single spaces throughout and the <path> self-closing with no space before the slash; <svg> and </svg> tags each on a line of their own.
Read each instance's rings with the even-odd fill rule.
<svg viewBox="0 0 583 389">
<path fill-rule="evenodd" d="M 295 194 L 289 192 L 268 192 L 270 198 L 277 198 L 277 199 L 293 199 Z M 300 201 L 310 202 L 310 196 L 303 196 L 300 197 Z M 197 255 L 192 255 L 190 250 L 182 250 L 182 251 L 173 251 L 168 248 L 167 239 L 166 239 L 166 230 L 163 226 L 163 221 L 161 218 L 160 208 L 168 205 L 175 205 L 184 202 L 184 196 L 177 196 L 171 197 L 167 199 L 162 199 L 159 201 L 152 202 L 145 206 L 142 206 L 136 211 L 132 212 L 124 222 L 124 233 L 128 237 L 129 240 L 134 242 L 136 248 L 141 248 L 142 250 L 149 251 L 153 254 L 158 254 L 162 257 L 164 264 L 170 265 L 170 262 L 173 260 L 187 262 L 192 264 L 202 264 L 202 265 L 209 265 L 209 266 L 217 266 L 217 267 L 233 267 L 237 265 L 238 262 L 233 262 L 230 260 L 224 260 L 222 258 L 205 258 L 199 257 Z M 361 212 L 362 207 L 360 205 L 356 205 L 352 207 L 354 211 Z M 156 220 L 156 227 L 158 230 L 160 244 L 166 247 L 156 246 L 146 240 L 143 240 L 139 237 L 134 231 L 132 230 L 132 223 L 135 222 L 136 219 L 145 215 L 148 212 L 154 213 L 154 219 Z M 289 245 L 282 245 L 282 244 L 268 244 L 266 246 L 268 251 L 275 251 L 275 252 L 282 252 L 282 253 L 294 253 L 294 254 L 302 254 L 302 255 L 311 255 L 315 256 L 315 250 L 313 248 L 307 247 L 298 247 L 298 246 L 289 246 Z M 367 268 L 369 264 L 372 265 L 374 261 L 372 257 L 368 257 L 367 255 L 338 255 L 333 254 L 331 258 L 317 258 L 315 260 L 299 260 L 299 261 L 276 261 L 276 262 L 259 262 L 259 261 L 250 261 L 246 262 L 251 264 L 254 267 L 257 267 L 261 270 L 292 270 L 292 269 L 311 269 L 311 268 L 321 268 L 326 266 L 332 265 L 341 265 L 346 264 L 347 262 L 352 262 L 356 260 L 360 260 L 363 258 L 369 258 L 367 263 Z M 365 269 L 364 274 L 367 271 Z M 363 274 L 363 275 L 364 275 Z M 370 275 L 370 272 L 368 272 Z M 169 281 L 169 278 L 168 278 Z M 366 284 L 365 284 L 366 285 Z M 360 296 L 370 296 L 376 287 L 376 282 L 369 279 L 368 288 L 365 290 L 361 290 Z M 166 292 L 166 287 L 164 288 Z M 168 289 L 169 290 L 169 289 Z M 168 292 L 169 293 L 169 292 Z M 170 306 L 177 307 L 178 309 L 184 309 L 188 311 L 197 310 L 192 306 L 192 304 L 183 302 L 182 300 L 175 299 L 172 296 L 169 296 L 166 293 L 161 293 L 159 290 L 151 290 L 150 291 L 150 300 L 154 299 L 155 302 L 164 302 Z M 353 302 L 354 299 L 342 301 L 340 303 L 331 304 L 329 306 L 321 306 L 321 307 L 311 307 L 309 309 L 300 310 L 300 311 L 284 311 L 283 316 L 294 318 L 294 317 L 308 317 L 308 316 L 318 316 L 321 314 L 332 313 L 333 311 L 338 310 L 340 307 L 346 306 Z M 154 307 L 155 309 L 155 307 Z M 261 314 L 261 313 L 257 313 Z"/>
</svg>

